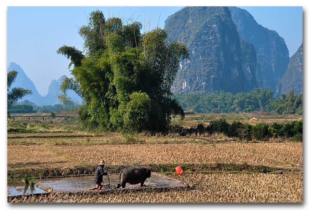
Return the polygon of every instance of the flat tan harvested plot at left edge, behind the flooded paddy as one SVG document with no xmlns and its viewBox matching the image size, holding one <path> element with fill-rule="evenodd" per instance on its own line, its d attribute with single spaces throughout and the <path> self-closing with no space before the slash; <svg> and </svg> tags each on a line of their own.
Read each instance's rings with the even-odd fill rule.
<svg viewBox="0 0 310 210">
<path fill-rule="evenodd" d="M 80 165 L 81 162 L 41 145 L 8 145 L 8 169 L 65 167 Z"/>
</svg>

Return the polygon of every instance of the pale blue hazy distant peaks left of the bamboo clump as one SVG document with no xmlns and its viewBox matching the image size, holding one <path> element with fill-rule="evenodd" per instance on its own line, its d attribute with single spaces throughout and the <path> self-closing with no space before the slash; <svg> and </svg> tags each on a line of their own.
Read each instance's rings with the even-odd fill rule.
<svg viewBox="0 0 310 210">
<path fill-rule="evenodd" d="M 57 95 L 61 93 L 59 87 L 61 85 L 62 79 L 64 76 L 61 76 L 58 80 L 51 81 L 49 85 L 49 90 L 46 96 L 42 97 L 37 88 L 35 87 L 33 81 L 31 81 L 28 76 L 25 74 L 23 69 L 16 63 L 11 62 L 8 67 L 9 71 L 17 71 L 18 75 L 16 77 L 15 82 L 12 84 L 13 87 L 23 87 L 29 90 L 32 90 L 32 95 L 27 95 L 20 99 L 19 101 L 23 101 L 25 99 L 34 102 L 36 105 L 42 106 L 42 105 L 54 105 L 59 104 Z M 81 98 L 72 90 L 67 92 L 67 95 L 71 97 L 76 103 L 80 104 L 82 102 Z"/>
</svg>

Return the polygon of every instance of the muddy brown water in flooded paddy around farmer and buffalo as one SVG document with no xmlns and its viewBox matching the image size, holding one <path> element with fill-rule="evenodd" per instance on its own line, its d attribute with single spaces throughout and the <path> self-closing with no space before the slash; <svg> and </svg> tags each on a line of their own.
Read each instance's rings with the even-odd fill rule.
<svg viewBox="0 0 310 210">
<path fill-rule="evenodd" d="M 107 177 L 104 178 L 104 183 L 109 184 Z M 119 175 L 111 175 L 112 185 L 117 186 L 119 183 Z M 53 191 L 82 191 L 88 190 L 91 187 L 96 186 L 94 176 L 78 176 L 78 177 L 67 177 L 67 178 L 51 178 L 51 179 L 40 179 L 37 180 L 37 184 L 45 187 L 53 187 Z M 152 174 L 150 178 L 147 178 L 144 182 L 146 186 L 184 186 L 176 181 L 171 181 L 163 177 Z M 137 185 L 129 185 L 128 187 L 139 187 Z"/>
</svg>

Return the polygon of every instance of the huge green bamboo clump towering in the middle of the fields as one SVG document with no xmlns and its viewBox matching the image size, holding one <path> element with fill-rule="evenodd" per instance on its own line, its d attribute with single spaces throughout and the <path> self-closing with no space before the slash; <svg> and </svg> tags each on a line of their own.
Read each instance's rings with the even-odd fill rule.
<svg viewBox="0 0 310 210">
<path fill-rule="evenodd" d="M 59 99 L 69 103 L 65 93 L 74 90 L 83 99 L 80 118 L 85 126 L 106 130 L 163 131 L 173 115 L 184 112 L 173 97 L 171 86 L 180 59 L 188 59 L 183 44 L 166 41 L 156 28 L 140 32 L 142 24 L 124 25 L 120 18 L 105 20 L 101 11 L 90 13 L 88 25 L 79 34 L 84 52 L 60 47 L 73 65 L 65 78 Z"/>
</svg>

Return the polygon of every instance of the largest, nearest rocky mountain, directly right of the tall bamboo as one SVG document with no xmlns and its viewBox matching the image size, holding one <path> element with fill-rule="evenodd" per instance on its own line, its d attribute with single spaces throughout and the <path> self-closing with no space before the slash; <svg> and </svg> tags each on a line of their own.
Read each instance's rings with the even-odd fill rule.
<svg viewBox="0 0 310 210">
<path fill-rule="evenodd" d="M 180 63 L 173 92 L 236 93 L 257 86 L 255 53 L 245 42 L 242 52 L 229 8 L 185 7 L 167 18 L 165 30 L 169 42 L 182 42 L 190 51 L 190 60 Z"/>
</svg>

